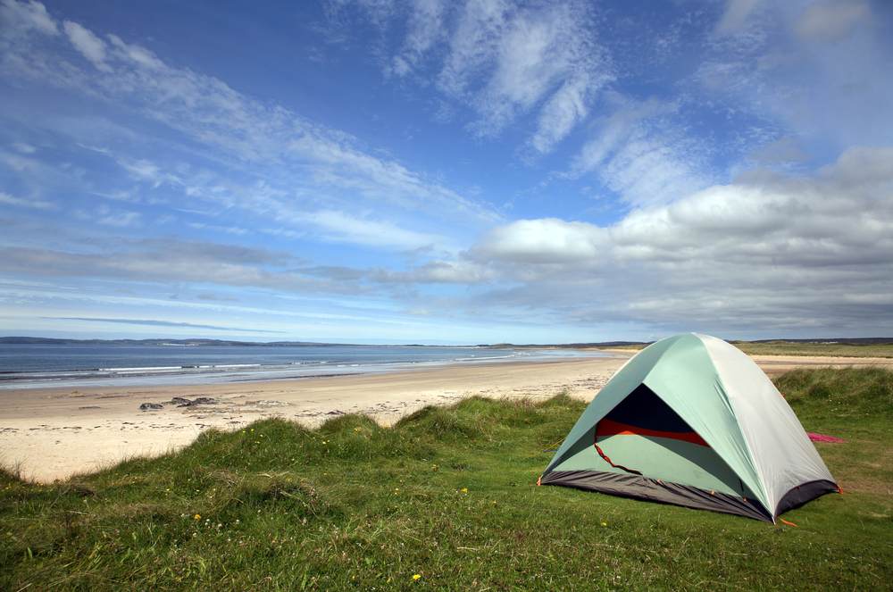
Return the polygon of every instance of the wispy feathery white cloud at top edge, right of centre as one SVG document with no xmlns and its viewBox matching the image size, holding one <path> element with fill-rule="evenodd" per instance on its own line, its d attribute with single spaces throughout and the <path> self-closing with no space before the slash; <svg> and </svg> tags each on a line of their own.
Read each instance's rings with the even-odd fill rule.
<svg viewBox="0 0 893 592">
<path fill-rule="evenodd" d="M 472 4 L 455 34 L 442 87 L 470 100 L 480 115 L 472 129 L 483 136 L 501 132 L 546 99 L 530 146 L 551 151 L 585 118 L 609 78 L 605 56 L 585 26 L 585 7 L 550 4 L 514 13 L 497 7 L 481 15 Z"/>
</svg>

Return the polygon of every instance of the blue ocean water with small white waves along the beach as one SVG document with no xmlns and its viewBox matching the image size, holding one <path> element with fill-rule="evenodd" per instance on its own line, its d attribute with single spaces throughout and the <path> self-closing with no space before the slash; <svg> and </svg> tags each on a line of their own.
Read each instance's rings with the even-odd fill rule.
<svg viewBox="0 0 893 592">
<path fill-rule="evenodd" d="M 599 356 L 571 349 L 445 346 L 0 344 L 0 389 L 207 384 Z"/>
</svg>

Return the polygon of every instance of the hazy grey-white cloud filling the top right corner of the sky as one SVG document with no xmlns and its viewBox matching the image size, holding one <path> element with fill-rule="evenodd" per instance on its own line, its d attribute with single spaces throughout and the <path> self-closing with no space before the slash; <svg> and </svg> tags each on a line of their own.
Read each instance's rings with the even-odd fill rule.
<svg viewBox="0 0 893 592">
<path fill-rule="evenodd" d="M 749 3 L 730 10 L 734 4 Z M 691 78 L 704 91 L 697 103 L 720 102 L 775 129 L 771 139 L 793 137 L 825 154 L 888 146 L 893 79 L 877 74 L 893 51 L 880 26 L 887 12 L 862 0 L 759 3 L 739 27 L 705 43 Z"/>
</svg>

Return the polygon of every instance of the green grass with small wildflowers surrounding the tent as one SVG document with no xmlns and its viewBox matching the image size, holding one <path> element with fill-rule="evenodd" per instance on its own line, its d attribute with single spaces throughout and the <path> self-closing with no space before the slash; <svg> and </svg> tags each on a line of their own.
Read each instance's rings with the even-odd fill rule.
<svg viewBox="0 0 893 592">
<path fill-rule="evenodd" d="M 260 421 L 54 485 L 0 474 L 0 589 L 878 589 L 893 373 L 777 380 L 845 495 L 799 528 L 535 485 L 584 404 L 471 398 L 385 429 Z M 413 574 L 421 578 L 414 580 Z"/>
</svg>

